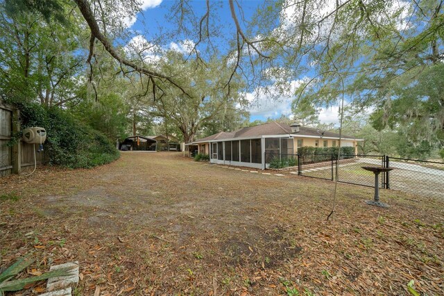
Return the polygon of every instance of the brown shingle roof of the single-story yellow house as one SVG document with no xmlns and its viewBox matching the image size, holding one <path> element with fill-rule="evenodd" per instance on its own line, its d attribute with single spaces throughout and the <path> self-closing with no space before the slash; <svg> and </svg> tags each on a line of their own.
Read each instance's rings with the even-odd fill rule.
<svg viewBox="0 0 444 296">
<path fill-rule="evenodd" d="M 264 124 L 259 124 L 256 126 L 248 126 L 243 129 L 239 129 L 234 132 L 220 132 L 215 133 L 214 135 L 210 135 L 206 138 L 202 138 L 196 140 L 194 142 L 207 142 L 210 140 L 224 140 L 224 139 L 233 139 L 233 138 L 260 138 L 262 135 L 299 135 L 303 137 L 304 135 L 308 136 L 316 136 L 329 137 L 329 138 L 339 138 L 339 133 L 333 133 L 331 131 L 319 131 L 318 129 L 313 129 L 310 127 L 300 126 L 299 133 L 291 133 L 291 127 L 288 124 L 282 124 L 279 122 L 267 122 Z M 342 139 L 352 139 L 355 140 L 355 137 L 350 137 L 348 135 L 342 135 Z"/>
</svg>

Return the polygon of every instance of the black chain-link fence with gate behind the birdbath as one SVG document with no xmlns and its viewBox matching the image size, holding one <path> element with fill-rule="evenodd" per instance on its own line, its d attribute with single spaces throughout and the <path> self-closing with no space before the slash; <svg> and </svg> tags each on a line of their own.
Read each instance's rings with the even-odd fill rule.
<svg viewBox="0 0 444 296">
<path fill-rule="evenodd" d="M 442 162 L 360 154 L 345 154 L 340 159 L 334 154 L 284 154 L 273 159 L 281 167 L 290 167 L 293 174 L 369 187 L 374 186 L 375 175 L 362 167 L 391 167 L 391 172 L 379 174 L 380 188 L 444 197 Z"/>
</svg>

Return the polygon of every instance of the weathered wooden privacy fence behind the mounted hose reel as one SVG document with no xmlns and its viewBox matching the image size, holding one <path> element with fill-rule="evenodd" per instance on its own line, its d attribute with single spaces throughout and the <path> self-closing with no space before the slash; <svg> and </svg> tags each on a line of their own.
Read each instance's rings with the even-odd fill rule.
<svg viewBox="0 0 444 296">
<path fill-rule="evenodd" d="M 19 174 L 34 167 L 34 151 L 37 145 L 19 140 L 17 145 L 8 145 L 12 135 L 20 131 L 19 110 L 0 101 L 0 176 Z M 37 165 L 44 163 L 44 152 L 35 151 Z"/>
</svg>

